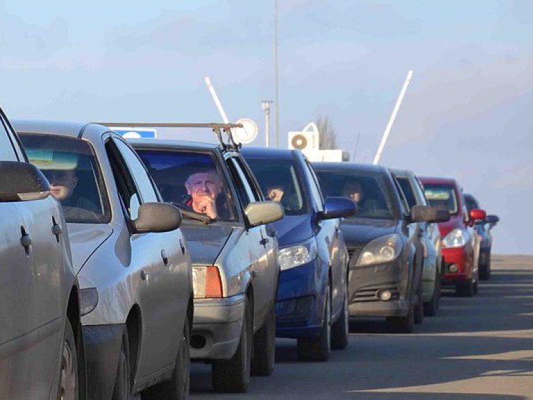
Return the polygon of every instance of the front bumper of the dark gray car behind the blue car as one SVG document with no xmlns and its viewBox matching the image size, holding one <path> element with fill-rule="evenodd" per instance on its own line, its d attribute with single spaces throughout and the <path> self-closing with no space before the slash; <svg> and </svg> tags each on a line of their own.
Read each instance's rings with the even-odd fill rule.
<svg viewBox="0 0 533 400">
<path fill-rule="evenodd" d="M 389 300 L 380 295 L 390 292 Z M 409 311 L 409 266 L 398 257 L 391 263 L 354 267 L 350 265 L 349 306 L 351 317 L 399 317 Z"/>
</svg>

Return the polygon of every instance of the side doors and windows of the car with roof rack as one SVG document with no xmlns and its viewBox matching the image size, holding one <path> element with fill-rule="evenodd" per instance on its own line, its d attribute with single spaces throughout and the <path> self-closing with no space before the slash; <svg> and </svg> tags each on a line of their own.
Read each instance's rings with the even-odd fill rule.
<svg viewBox="0 0 533 400">
<path fill-rule="evenodd" d="M 242 210 L 246 209 L 252 201 L 260 201 L 262 198 L 253 184 L 251 173 L 246 165 L 237 156 L 227 158 L 226 163 L 230 169 L 237 196 Z M 264 317 L 272 306 L 278 286 L 278 263 L 274 256 L 274 238 L 267 233 L 264 225 L 246 228 L 243 240 L 248 241 L 248 249 L 251 255 L 251 274 L 254 290 L 254 325 L 260 326 Z"/>
</svg>

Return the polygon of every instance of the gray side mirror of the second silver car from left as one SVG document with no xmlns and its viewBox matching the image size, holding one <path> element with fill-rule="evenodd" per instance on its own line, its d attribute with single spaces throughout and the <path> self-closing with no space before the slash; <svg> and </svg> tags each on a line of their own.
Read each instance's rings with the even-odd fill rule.
<svg viewBox="0 0 533 400">
<path fill-rule="evenodd" d="M 179 208 L 169 203 L 144 203 L 133 220 L 134 233 L 169 232 L 181 225 Z"/>
</svg>

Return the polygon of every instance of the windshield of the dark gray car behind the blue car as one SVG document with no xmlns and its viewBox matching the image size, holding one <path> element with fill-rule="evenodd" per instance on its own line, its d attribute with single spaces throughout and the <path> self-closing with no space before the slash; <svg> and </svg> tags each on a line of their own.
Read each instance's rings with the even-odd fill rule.
<svg viewBox="0 0 533 400">
<path fill-rule="evenodd" d="M 352 218 L 394 219 L 390 185 L 380 172 L 315 171 L 325 196 L 348 197 L 357 203 Z"/>
</svg>

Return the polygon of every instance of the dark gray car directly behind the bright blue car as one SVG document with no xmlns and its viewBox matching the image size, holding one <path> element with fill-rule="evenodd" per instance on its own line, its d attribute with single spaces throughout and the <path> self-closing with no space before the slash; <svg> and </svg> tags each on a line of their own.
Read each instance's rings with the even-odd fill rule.
<svg viewBox="0 0 533 400">
<path fill-rule="evenodd" d="M 423 247 L 417 222 L 437 210 L 407 209 L 389 169 L 378 165 L 314 163 L 328 196 L 350 197 L 357 213 L 341 224 L 350 253 L 353 317 L 387 317 L 392 331 L 412 332 L 423 319 Z"/>
</svg>

